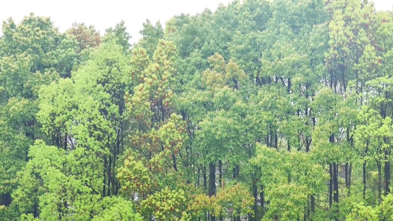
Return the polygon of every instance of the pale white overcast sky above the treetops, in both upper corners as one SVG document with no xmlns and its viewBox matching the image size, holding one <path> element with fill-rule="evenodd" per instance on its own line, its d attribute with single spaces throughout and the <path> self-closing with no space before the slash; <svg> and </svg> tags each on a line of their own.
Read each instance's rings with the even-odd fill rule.
<svg viewBox="0 0 393 221">
<path fill-rule="evenodd" d="M 205 8 L 212 11 L 231 0 L 6 0 L 0 7 L 0 20 L 10 16 L 20 22 L 24 15 L 49 16 L 60 31 L 70 28 L 73 22 L 94 25 L 101 34 L 106 28 L 124 20 L 131 42 L 140 38 L 142 23 L 149 18 L 165 22 L 180 13 L 195 15 Z M 393 0 L 374 0 L 377 10 L 392 10 Z"/>
</svg>

